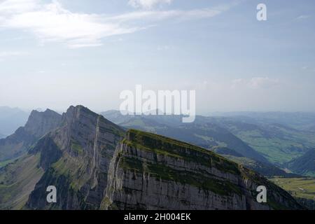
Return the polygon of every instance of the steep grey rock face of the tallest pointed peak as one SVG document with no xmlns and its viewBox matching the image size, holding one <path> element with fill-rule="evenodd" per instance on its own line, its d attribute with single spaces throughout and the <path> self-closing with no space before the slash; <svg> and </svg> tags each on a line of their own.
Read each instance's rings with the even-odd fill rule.
<svg viewBox="0 0 315 224">
<path fill-rule="evenodd" d="M 45 170 L 29 196 L 27 209 L 98 209 L 107 172 L 123 130 L 83 106 L 71 106 L 62 127 L 38 141 L 31 153 L 41 154 Z M 46 202 L 46 188 L 55 186 L 57 203 Z"/>
</svg>

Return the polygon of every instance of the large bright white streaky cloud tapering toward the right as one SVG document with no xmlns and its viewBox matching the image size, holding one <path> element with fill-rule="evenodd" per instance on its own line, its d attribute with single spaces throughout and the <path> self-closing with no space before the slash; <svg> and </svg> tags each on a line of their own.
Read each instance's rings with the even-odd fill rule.
<svg viewBox="0 0 315 224">
<path fill-rule="evenodd" d="M 109 36 L 148 29 L 162 20 L 177 19 L 181 22 L 211 18 L 225 10 L 228 8 L 141 10 L 121 15 L 102 15 L 73 13 L 58 1 L 6 0 L 0 3 L 0 28 L 30 31 L 42 43 L 55 41 L 69 48 L 83 48 L 102 45 L 102 39 Z"/>
</svg>

